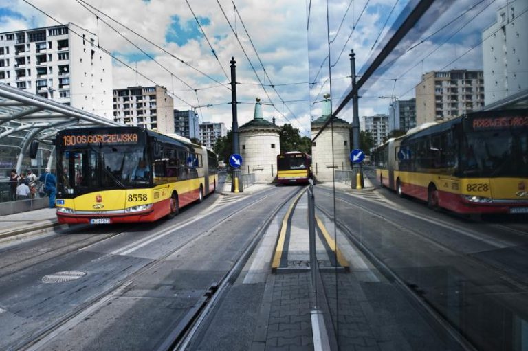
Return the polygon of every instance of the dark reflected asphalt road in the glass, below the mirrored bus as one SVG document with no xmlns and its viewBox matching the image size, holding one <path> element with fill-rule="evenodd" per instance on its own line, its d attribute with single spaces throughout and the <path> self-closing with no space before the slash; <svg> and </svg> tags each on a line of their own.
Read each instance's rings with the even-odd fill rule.
<svg viewBox="0 0 528 351">
<path fill-rule="evenodd" d="M 316 186 L 316 204 L 319 212 L 336 215 L 338 231 L 352 236 L 478 350 L 527 347 L 523 337 L 528 330 L 525 218 L 473 220 L 434 212 L 420 201 L 400 199 L 386 189 L 354 194 L 336 189 L 334 201 L 332 189 Z M 336 275 L 329 284 L 338 286 L 334 317 L 342 313 L 340 305 L 348 293 L 345 287 L 339 291 L 346 285 L 342 277 Z M 371 294 L 366 298 L 375 304 L 382 292 L 371 283 L 362 284 Z M 399 311 L 401 319 L 396 323 L 408 322 L 407 313 Z M 345 335 L 350 324 L 337 320 L 340 335 Z M 418 345 L 412 348 L 437 349 Z M 450 346 L 440 349 L 445 348 Z"/>
</svg>

